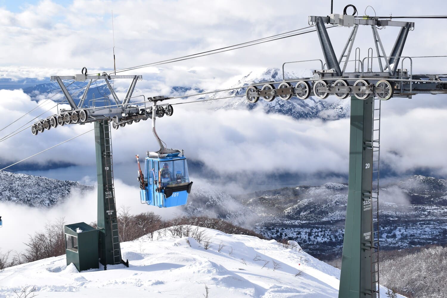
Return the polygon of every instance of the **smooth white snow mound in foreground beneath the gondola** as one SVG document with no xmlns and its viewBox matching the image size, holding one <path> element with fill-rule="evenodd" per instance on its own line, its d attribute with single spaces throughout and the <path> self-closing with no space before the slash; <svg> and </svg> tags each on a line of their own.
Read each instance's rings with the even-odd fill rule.
<svg viewBox="0 0 447 298">
<path fill-rule="evenodd" d="M 173 238 L 169 230 L 121 243 L 124 265 L 79 273 L 65 255 L 0 271 L 0 298 L 35 286 L 43 297 L 338 297 L 340 271 L 299 246 L 199 228 L 202 239 Z M 268 263 L 266 264 L 266 262 Z M 275 265 L 277 264 L 277 265 Z M 264 266 L 265 265 L 265 266 Z M 274 267 L 276 267 L 274 269 Z M 301 272 L 297 275 L 297 273 Z M 385 296 L 384 288 L 381 289 Z M 399 298 L 403 297 L 398 295 Z"/>
</svg>

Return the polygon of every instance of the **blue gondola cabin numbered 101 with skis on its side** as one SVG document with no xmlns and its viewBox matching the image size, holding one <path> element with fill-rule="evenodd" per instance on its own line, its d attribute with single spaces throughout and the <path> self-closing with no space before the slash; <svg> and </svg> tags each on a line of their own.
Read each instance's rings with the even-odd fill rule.
<svg viewBox="0 0 447 298">
<path fill-rule="evenodd" d="M 186 157 L 183 151 L 170 151 L 161 156 L 148 152 L 144 170 L 139 170 L 142 203 L 160 208 L 186 205 L 193 184 L 190 182 Z"/>
</svg>

